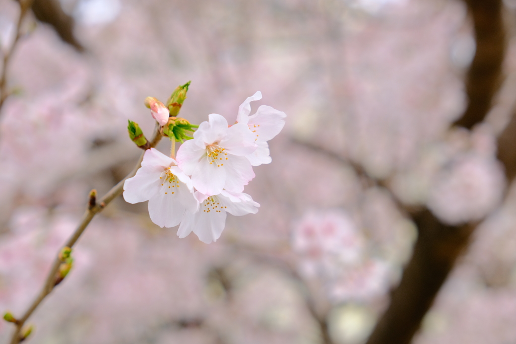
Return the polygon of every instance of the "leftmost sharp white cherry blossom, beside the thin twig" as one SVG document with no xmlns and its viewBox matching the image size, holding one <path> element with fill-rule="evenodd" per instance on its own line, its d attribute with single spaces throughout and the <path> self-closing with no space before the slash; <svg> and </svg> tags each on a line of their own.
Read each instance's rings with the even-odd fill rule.
<svg viewBox="0 0 516 344">
<path fill-rule="evenodd" d="M 124 183 L 124 199 L 128 203 L 149 201 L 149 216 L 160 227 L 179 224 L 185 210 L 197 211 L 190 178 L 177 162 L 151 148 L 145 152 L 141 168 Z"/>
</svg>

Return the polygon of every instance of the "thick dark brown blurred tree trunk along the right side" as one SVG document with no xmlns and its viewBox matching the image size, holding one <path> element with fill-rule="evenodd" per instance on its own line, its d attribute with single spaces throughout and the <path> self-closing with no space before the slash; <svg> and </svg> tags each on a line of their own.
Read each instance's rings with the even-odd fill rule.
<svg viewBox="0 0 516 344">
<path fill-rule="evenodd" d="M 466 77 L 469 104 L 455 125 L 471 129 L 486 117 L 493 95 L 499 89 L 506 42 L 501 0 L 467 0 L 466 4 L 474 22 L 476 53 Z M 498 142 L 498 158 L 505 164 L 509 180 L 516 175 L 514 138 L 516 120 L 513 119 Z M 413 220 L 418 228 L 413 255 L 367 344 L 412 341 L 457 257 L 467 248 L 476 226 L 475 223 L 446 225 L 428 209 L 416 214 Z"/>
</svg>

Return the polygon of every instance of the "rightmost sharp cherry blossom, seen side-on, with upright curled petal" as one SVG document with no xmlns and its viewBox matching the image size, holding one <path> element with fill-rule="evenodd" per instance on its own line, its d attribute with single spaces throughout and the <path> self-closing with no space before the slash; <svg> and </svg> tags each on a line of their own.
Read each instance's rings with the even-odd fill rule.
<svg viewBox="0 0 516 344">
<path fill-rule="evenodd" d="M 281 132 L 285 125 L 283 119 L 286 117 L 285 112 L 267 105 L 260 106 L 256 113 L 249 116 L 249 113 L 251 113 L 250 103 L 260 99 L 262 99 L 262 92 L 260 91 L 248 97 L 238 108 L 237 116 L 238 123 L 246 124 L 249 127 L 249 130 L 253 133 L 254 143 L 258 146 L 253 153 L 246 156 L 251 161 L 252 166 L 259 166 L 262 163 L 272 161 L 267 141 Z"/>
</svg>

